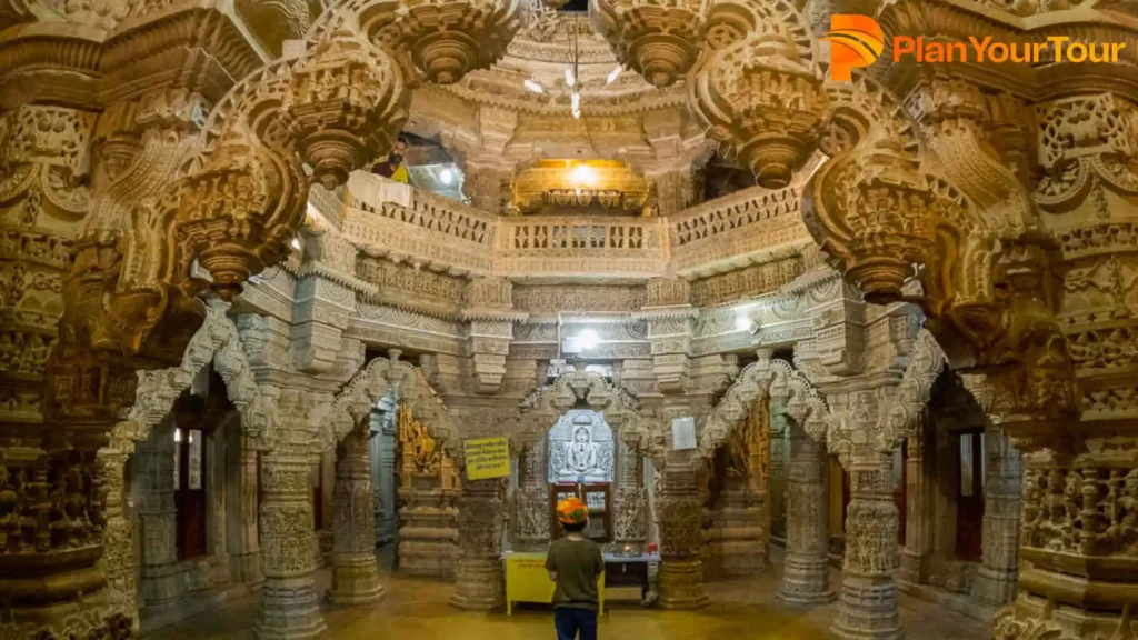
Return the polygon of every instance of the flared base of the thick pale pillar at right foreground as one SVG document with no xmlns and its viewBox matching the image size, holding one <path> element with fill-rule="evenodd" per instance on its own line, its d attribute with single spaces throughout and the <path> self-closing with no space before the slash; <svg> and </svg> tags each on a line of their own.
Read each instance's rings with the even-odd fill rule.
<svg viewBox="0 0 1138 640">
<path fill-rule="evenodd" d="M 830 631 L 846 640 L 901 640 L 897 583 L 892 576 L 847 576 Z"/>
</svg>

